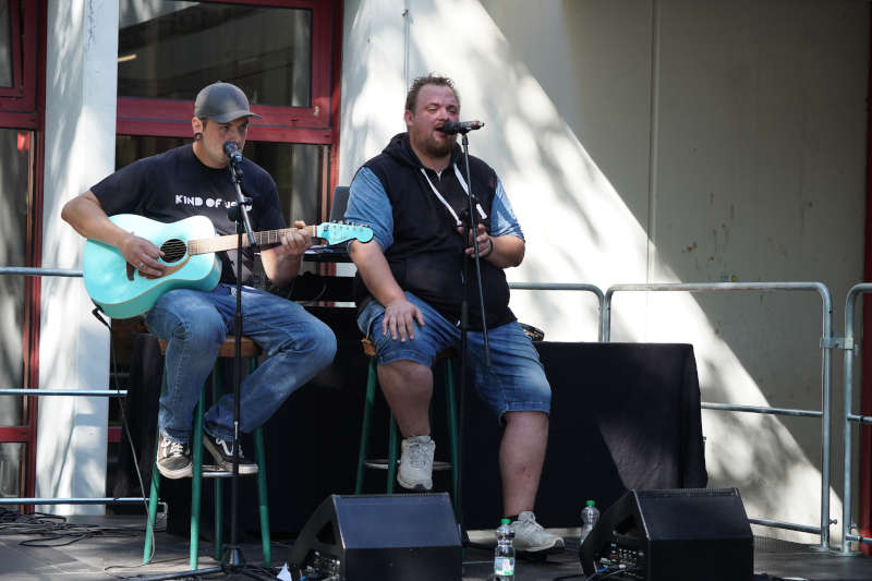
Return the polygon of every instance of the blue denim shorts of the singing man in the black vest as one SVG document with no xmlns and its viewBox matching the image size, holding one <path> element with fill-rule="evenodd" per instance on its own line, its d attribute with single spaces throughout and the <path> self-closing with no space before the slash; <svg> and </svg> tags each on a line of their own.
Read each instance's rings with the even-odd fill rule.
<svg viewBox="0 0 872 581">
<path fill-rule="evenodd" d="M 414 361 L 433 366 L 436 355 L 453 347 L 460 349 L 460 327 L 451 324 L 427 303 L 405 293 L 424 315 L 424 326 L 415 326 L 415 338 L 404 342 L 382 332 L 385 307 L 372 300 L 358 317 L 358 326 L 373 341 L 379 365 L 395 361 Z M 533 342 L 517 320 L 487 329 L 491 367 L 484 362 L 484 339 L 481 331 L 467 336 L 467 364 L 475 378 L 475 389 L 487 406 L 501 419 L 512 411 L 550 411 L 552 388 L 538 361 Z"/>
</svg>

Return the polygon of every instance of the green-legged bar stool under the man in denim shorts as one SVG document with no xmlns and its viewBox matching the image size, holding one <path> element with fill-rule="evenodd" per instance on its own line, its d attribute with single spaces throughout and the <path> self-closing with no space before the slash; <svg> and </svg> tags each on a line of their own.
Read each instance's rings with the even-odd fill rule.
<svg viewBox="0 0 872 581">
<path fill-rule="evenodd" d="M 363 492 L 363 471 L 366 468 L 388 471 L 387 494 L 393 494 L 397 476 L 397 457 L 399 455 L 399 438 L 397 437 L 397 422 L 393 420 L 393 412 L 390 412 L 388 420 L 390 427 L 388 431 L 388 458 L 383 460 L 367 460 L 366 455 L 370 449 L 370 429 L 372 423 L 373 406 L 375 403 L 376 386 L 378 385 L 378 371 L 375 358 L 375 346 L 370 339 L 361 339 L 363 352 L 370 358 L 370 372 L 366 378 L 366 397 L 363 407 L 363 425 L 361 427 L 361 446 L 358 453 L 358 475 L 354 484 L 354 494 Z M 445 361 L 445 397 L 446 415 L 448 422 L 448 447 L 450 462 L 433 462 L 433 470 L 451 470 L 451 492 L 455 511 L 457 511 L 457 484 L 458 484 L 458 422 L 457 402 L 455 399 L 455 375 L 451 360 L 457 356 L 457 351 L 449 348 L 436 355 L 436 361 Z"/>
</svg>

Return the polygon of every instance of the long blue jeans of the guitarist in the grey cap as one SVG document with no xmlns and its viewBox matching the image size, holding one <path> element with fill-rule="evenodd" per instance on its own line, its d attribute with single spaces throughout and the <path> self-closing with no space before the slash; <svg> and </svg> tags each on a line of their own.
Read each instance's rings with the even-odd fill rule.
<svg viewBox="0 0 872 581">
<path fill-rule="evenodd" d="M 218 285 L 211 292 L 171 290 L 148 311 L 152 334 L 169 340 L 160 396 L 158 428 L 165 438 L 189 441 L 194 408 L 203 383 L 225 338 L 235 332 L 237 289 Z M 240 386 L 240 429 L 251 432 L 336 354 L 336 337 L 302 306 L 265 291 L 242 288 L 242 334 L 252 338 L 267 360 Z M 233 439 L 233 397 L 222 396 L 205 416 L 205 429 Z"/>
</svg>

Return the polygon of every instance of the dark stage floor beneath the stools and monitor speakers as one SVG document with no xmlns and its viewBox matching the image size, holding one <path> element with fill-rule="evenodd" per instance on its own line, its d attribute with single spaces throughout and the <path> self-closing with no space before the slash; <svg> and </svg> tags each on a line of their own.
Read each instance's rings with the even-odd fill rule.
<svg viewBox="0 0 872 581">
<path fill-rule="evenodd" d="M 3 519 L 4 521 L 5 519 Z M 170 535 L 160 530 L 156 534 L 157 550 L 152 564 L 141 566 L 143 550 L 143 521 L 132 517 L 76 518 L 52 531 L 37 534 L 33 529 L 0 521 L 0 578 L 4 581 L 63 579 L 84 581 L 93 579 L 129 579 L 160 576 L 184 571 L 187 564 L 187 538 Z M 74 528 L 73 525 L 83 525 Z M 96 526 L 86 529 L 84 525 Z M 13 526 L 15 526 L 13 529 Z M 576 533 L 566 530 L 562 533 Z M 51 538 L 57 536 L 56 538 Z M 470 533 L 473 541 L 493 540 L 489 531 Z M 75 541 L 80 538 L 78 541 Z M 74 541 L 74 542 L 73 542 Z M 246 540 L 247 541 L 247 540 Z M 492 541 L 493 542 L 493 541 Z M 27 543 L 27 544 L 22 544 Z M 45 546 L 32 546 L 34 544 Z M 569 537 L 568 549 L 550 556 L 544 562 L 519 560 L 516 581 L 552 581 L 557 577 L 579 574 L 578 543 Z M 281 565 L 290 546 L 272 544 L 274 565 Z M 206 555 L 211 544 L 201 543 L 201 568 L 217 567 Z M 261 547 L 255 543 L 243 545 L 243 555 L 252 565 L 259 565 Z M 464 581 L 485 581 L 493 572 L 493 554 L 489 550 L 467 549 L 463 560 Z M 872 558 L 865 556 L 841 557 L 832 552 L 821 552 L 807 545 L 771 538 L 756 538 L 754 543 L 755 581 L 768 579 L 808 579 L 827 581 L 868 581 L 872 579 Z M 765 574 L 763 574 L 765 573 Z M 767 577 L 771 576 L 771 577 Z M 247 579 L 242 576 L 210 576 L 209 579 Z M 270 579 L 264 577 L 264 579 Z"/>
</svg>

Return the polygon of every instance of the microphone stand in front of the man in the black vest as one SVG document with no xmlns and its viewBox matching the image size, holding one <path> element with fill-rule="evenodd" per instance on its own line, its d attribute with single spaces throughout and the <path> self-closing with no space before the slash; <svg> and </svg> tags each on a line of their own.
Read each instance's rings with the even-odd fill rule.
<svg viewBox="0 0 872 581">
<path fill-rule="evenodd" d="M 491 366 L 491 346 L 487 340 L 487 316 L 484 310 L 484 288 L 482 286 L 482 263 L 481 263 L 481 255 L 479 254 L 479 218 L 475 213 L 475 206 L 479 205 L 477 199 L 472 191 L 472 174 L 470 173 L 470 141 L 467 136 L 472 129 L 476 128 L 463 128 L 458 131 L 462 135 L 461 144 L 463 146 L 463 161 L 464 161 L 464 170 L 467 173 L 467 187 L 468 187 L 468 195 L 467 195 L 467 214 L 469 215 L 469 219 L 467 220 L 467 238 L 469 238 L 469 232 L 472 232 L 472 258 L 475 263 L 475 281 L 479 289 L 479 308 L 481 312 L 482 318 L 482 339 L 484 341 L 484 361 L 486 366 Z M 493 242 L 492 242 L 493 244 Z M 493 252 L 493 246 L 492 251 Z M 467 350 L 468 350 L 468 334 L 469 334 L 469 285 L 470 285 L 470 261 L 467 258 L 465 254 L 463 255 L 463 300 L 460 303 L 460 389 L 459 397 L 458 397 L 458 467 L 457 467 L 457 493 L 455 498 L 455 504 L 457 506 L 458 511 L 458 528 L 460 530 L 460 536 L 465 546 L 473 546 L 469 540 L 469 535 L 467 534 L 467 529 L 463 525 L 463 414 L 464 414 L 464 404 L 463 401 L 467 398 L 467 370 L 468 370 L 468 362 L 467 362 Z"/>
</svg>

